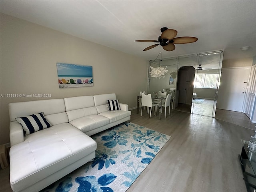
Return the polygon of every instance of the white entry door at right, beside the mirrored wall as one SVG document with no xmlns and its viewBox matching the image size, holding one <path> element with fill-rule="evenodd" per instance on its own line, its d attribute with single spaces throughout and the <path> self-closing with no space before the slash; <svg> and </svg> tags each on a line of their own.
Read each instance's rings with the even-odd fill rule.
<svg viewBox="0 0 256 192">
<path fill-rule="evenodd" d="M 242 112 L 251 68 L 223 68 L 217 108 Z"/>
</svg>

